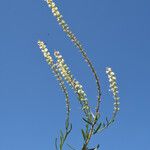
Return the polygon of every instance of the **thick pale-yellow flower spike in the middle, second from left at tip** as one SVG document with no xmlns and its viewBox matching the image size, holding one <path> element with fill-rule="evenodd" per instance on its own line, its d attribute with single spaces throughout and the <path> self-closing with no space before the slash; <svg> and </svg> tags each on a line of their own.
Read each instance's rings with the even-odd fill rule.
<svg viewBox="0 0 150 150">
<path fill-rule="evenodd" d="M 74 79 L 73 75 L 71 74 L 69 67 L 65 64 L 65 61 L 60 55 L 59 51 L 55 51 L 54 55 L 57 59 L 57 68 L 60 71 L 61 75 L 64 79 L 68 82 L 68 84 L 74 89 L 75 93 L 78 95 L 78 99 L 82 105 L 82 109 L 87 113 L 90 112 L 90 108 L 88 106 L 88 100 L 86 98 L 86 94 L 83 90 L 82 85 Z"/>
</svg>

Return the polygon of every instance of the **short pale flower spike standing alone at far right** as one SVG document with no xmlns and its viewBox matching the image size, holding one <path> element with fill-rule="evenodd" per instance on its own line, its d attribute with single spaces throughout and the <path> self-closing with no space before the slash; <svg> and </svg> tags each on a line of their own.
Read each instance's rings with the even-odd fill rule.
<svg viewBox="0 0 150 150">
<path fill-rule="evenodd" d="M 114 98 L 114 113 L 119 111 L 119 97 L 118 97 L 118 87 L 116 83 L 115 73 L 111 68 L 106 68 L 106 74 L 108 75 L 109 83 L 110 83 L 110 91 L 113 93 Z"/>
</svg>

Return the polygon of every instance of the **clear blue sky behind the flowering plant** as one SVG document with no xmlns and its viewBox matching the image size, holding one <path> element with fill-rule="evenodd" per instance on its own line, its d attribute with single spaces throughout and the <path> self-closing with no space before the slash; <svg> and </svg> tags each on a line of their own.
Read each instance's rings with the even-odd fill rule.
<svg viewBox="0 0 150 150">
<path fill-rule="evenodd" d="M 105 67 L 112 67 L 118 78 L 121 110 L 115 124 L 92 139 L 91 147 L 99 143 L 102 150 L 148 150 L 150 1 L 55 2 L 100 77 L 102 119 L 113 109 Z M 0 150 L 53 150 L 64 127 L 64 95 L 37 40 L 44 40 L 51 53 L 60 51 L 92 106 L 94 79 L 44 1 L 1 1 L 0 18 Z M 69 94 L 73 131 L 68 143 L 79 150 L 81 110 L 70 89 Z"/>
</svg>

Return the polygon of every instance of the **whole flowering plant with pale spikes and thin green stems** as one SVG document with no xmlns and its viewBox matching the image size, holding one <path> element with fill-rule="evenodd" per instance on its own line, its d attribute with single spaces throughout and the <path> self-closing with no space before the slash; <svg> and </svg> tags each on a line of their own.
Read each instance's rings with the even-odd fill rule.
<svg viewBox="0 0 150 150">
<path fill-rule="evenodd" d="M 78 101 L 81 104 L 82 111 L 84 113 L 83 121 L 85 123 L 85 130 L 81 129 L 82 136 L 83 136 L 83 145 L 82 150 L 97 150 L 99 148 L 99 145 L 97 145 L 93 149 L 88 148 L 88 144 L 92 138 L 93 135 L 102 132 L 104 129 L 106 129 L 108 126 L 110 126 L 116 117 L 117 112 L 119 111 L 119 96 L 118 96 L 118 87 L 116 83 L 116 76 L 115 73 L 112 71 L 110 67 L 106 68 L 106 74 L 108 76 L 108 80 L 110 83 L 110 91 L 113 94 L 114 99 L 114 109 L 113 114 L 110 119 L 106 117 L 106 122 L 99 122 L 100 120 L 100 102 L 101 102 L 101 88 L 100 88 L 100 82 L 99 78 L 97 76 L 97 73 L 92 65 L 92 62 L 88 58 L 87 54 L 85 53 L 85 50 L 83 49 L 83 46 L 81 45 L 80 41 L 76 38 L 76 36 L 73 34 L 73 32 L 70 30 L 68 24 L 63 19 L 63 16 L 60 14 L 58 7 L 54 3 L 53 0 L 46 0 L 48 6 L 50 7 L 52 14 L 56 17 L 59 25 L 62 27 L 62 30 L 67 34 L 67 36 L 70 38 L 70 40 L 73 42 L 73 44 L 80 50 L 84 60 L 88 64 L 89 68 L 91 69 L 93 76 L 96 81 L 97 85 L 97 105 L 95 108 L 95 113 L 92 112 L 89 104 L 88 104 L 88 98 L 87 95 L 83 89 L 83 86 L 80 84 L 79 81 L 77 81 L 73 74 L 71 73 L 69 67 L 65 63 L 62 55 L 59 51 L 54 51 L 54 56 L 56 57 L 56 62 L 54 62 L 53 57 L 51 56 L 50 52 L 48 51 L 46 45 L 43 41 L 38 41 L 39 48 L 41 49 L 48 65 L 51 67 L 53 73 L 55 74 L 59 85 L 65 95 L 66 98 L 66 121 L 65 121 L 65 131 L 60 131 L 60 140 L 59 140 L 59 147 L 58 147 L 58 141 L 56 139 L 55 147 L 56 150 L 62 150 L 63 145 L 69 135 L 69 133 L 72 130 L 72 124 L 70 123 L 70 101 L 69 101 L 69 95 L 67 88 L 65 86 L 65 81 L 73 88 L 75 94 L 77 95 Z M 68 145 L 71 149 L 73 149 L 70 145 Z"/>
</svg>

